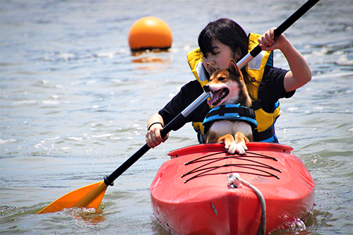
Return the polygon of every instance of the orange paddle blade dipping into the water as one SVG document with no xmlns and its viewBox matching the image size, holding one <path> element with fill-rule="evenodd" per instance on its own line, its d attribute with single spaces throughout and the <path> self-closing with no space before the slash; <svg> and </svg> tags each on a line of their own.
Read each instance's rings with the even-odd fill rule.
<svg viewBox="0 0 353 235">
<path fill-rule="evenodd" d="M 71 207 L 86 207 L 95 208 L 95 210 L 98 210 L 106 190 L 107 185 L 104 181 L 92 183 L 54 200 L 54 202 L 47 205 L 47 207 L 44 207 L 44 209 L 37 214 L 58 212 L 64 208 Z"/>
</svg>

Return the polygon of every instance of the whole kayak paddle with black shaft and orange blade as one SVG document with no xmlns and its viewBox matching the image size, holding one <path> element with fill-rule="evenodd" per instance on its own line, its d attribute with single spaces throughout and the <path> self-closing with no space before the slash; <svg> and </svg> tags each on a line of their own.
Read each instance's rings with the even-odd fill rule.
<svg viewBox="0 0 353 235">
<path fill-rule="evenodd" d="M 292 16 L 290 16 L 287 20 L 285 20 L 280 27 L 275 30 L 275 37 L 278 37 L 285 32 L 287 28 L 289 28 L 295 21 L 297 21 L 301 16 L 309 11 L 309 9 L 314 6 L 319 0 L 309 0 L 301 6 Z M 254 57 L 256 57 L 261 52 L 261 47 L 257 46 L 249 54 L 244 56 L 241 61 L 237 64 L 239 68 L 243 68 L 246 64 L 251 61 Z M 192 102 L 183 112 L 178 114 L 167 126 L 161 131 L 162 138 L 172 131 L 175 126 L 178 126 L 179 123 L 186 119 L 191 112 L 193 112 L 201 103 L 205 102 L 209 94 L 204 92 L 203 95 L 198 97 L 194 102 Z M 38 212 L 37 214 L 47 213 L 47 212 L 58 212 L 64 208 L 70 207 L 88 207 L 88 208 L 95 208 L 98 209 L 102 199 L 104 197 L 104 193 L 107 190 L 107 186 L 112 186 L 113 182 L 116 178 L 118 178 L 121 174 L 126 171 L 129 167 L 131 167 L 140 157 L 142 157 L 150 147 L 147 144 L 143 145 L 135 154 L 133 154 L 130 158 L 126 160 L 119 168 L 117 168 L 112 174 L 109 176 L 105 176 L 103 181 L 92 183 L 89 186 L 85 186 L 83 188 L 78 188 L 71 193 L 67 193 L 66 195 L 62 196 L 61 198 L 54 200 L 54 202 L 44 207 L 43 210 Z"/>
</svg>

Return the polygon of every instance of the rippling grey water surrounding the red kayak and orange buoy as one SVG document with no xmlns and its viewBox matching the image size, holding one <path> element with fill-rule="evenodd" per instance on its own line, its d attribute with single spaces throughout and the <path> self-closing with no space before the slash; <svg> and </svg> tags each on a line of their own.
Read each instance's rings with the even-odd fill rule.
<svg viewBox="0 0 353 235">
<path fill-rule="evenodd" d="M 1 1 L 1 233 L 168 234 L 152 216 L 149 187 L 169 150 L 197 143 L 191 124 L 120 176 L 97 212 L 35 213 L 101 181 L 145 143 L 149 117 L 193 80 L 186 53 L 210 20 L 263 33 L 302 4 Z M 313 176 L 316 206 L 305 224 L 278 234 L 353 231 L 352 8 L 321 0 L 285 32 L 313 79 L 282 100 L 277 135 Z M 172 29 L 168 52 L 131 54 L 128 30 L 144 16 Z M 275 66 L 287 68 L 279 52 Z"/>
</svg>

